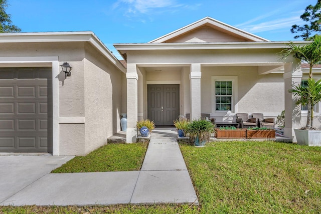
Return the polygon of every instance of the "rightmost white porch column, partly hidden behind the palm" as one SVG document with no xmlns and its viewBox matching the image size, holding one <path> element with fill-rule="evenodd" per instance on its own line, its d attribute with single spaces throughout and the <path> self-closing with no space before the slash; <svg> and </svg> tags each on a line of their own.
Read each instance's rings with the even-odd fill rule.
<svg viewBox="0 0 321 214">
<path fill-rule="evenodd" d="M 291 138 L 296 142 L 293 128 L 301 128 L 301 105 L 296 105 L 295 96 L 288 90 L 292 85 L 301 84 L 302 70 L 300 61 L 293 58 L 293 62 L 285 63 L 284 66 L 284 109 L 285 127 L 284 137 Z"/>
</svg>

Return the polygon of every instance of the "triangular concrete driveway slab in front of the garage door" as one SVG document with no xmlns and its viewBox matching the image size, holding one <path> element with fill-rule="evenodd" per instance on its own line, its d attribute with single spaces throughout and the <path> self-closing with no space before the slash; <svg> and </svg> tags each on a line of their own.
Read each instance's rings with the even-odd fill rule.
<svg viewBox="0 0 321 214">
<path fill-rule="evenodd" d="M 0 205 L 72 158 L 74 156 L 0 154 Z"/>
</svg>

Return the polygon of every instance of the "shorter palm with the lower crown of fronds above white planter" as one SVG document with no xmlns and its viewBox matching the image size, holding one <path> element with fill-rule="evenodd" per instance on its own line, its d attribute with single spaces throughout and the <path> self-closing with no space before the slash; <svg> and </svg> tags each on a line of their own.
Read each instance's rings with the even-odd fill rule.
<svg viewBox="0 0 321 214">
<path fill-rule="evenodd" d="M 313 108 L 312 106 L 316 105 L 321 101 L 321 79 L 315 81 L 314 79 L 308 79 L 307 87 L 303 87 L 301 84 L 293 86 L 293 89 L 290 89 L 289 92 L 298 96 L 297 104 L 310 105 L 311 114 L 310 114 L 310 124 L 306 121 L 305 127 L 313 126 Z M 309 108 L 309 106 L 308 106 Z"/>
</svg>

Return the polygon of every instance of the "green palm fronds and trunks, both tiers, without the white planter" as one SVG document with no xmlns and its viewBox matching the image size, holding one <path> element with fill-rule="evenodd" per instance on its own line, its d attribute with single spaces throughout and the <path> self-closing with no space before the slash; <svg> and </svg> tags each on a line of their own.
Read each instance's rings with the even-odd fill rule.
<svg viewBox="0 0 321 214">
<path fill-rule="evenodd" d="M 321 94 L 321 85 L 319 87 L 316 87 L 315 85 L 313 86 L 312 83 L 310 83 L 311 80 L 313 80 L 312 67 L 316 64 L 321 63 L 321 35 L 314 35 L 313 41 L 302 47 L 296 46 L 292 42 L 290 42 L 287 46 L 288 48 L 285 48 L 280 53 L 281 59 L 285 60 L 288 56 L 293 56 L 294 58 L 305 61 L 309 64 L 309 80 L 307 89 L 303 89 L 302 86 L 299 86 L 299 88 L 294 86 L 294 90 L 300 91 L 300 93 L 296 93 L 291 90 L 289 90 L 289 92 L 292 92 L 300 97 L 298 101 L 299 103 L 307 104 L 307 120 L 305 127 L 311 127 L 311 125 L 313 125 L 313 122 L 311 121 L 311 119 L 313 119 L 312 106 L 315 105 L 314 100 L 315 97 L 317 97 L 314 93 Z M 318 89 L 318 91 L 315 92 L 316 89 Z M 317 102 L 319 101 L 321 101 L 321 99 Z"/>
</svg>

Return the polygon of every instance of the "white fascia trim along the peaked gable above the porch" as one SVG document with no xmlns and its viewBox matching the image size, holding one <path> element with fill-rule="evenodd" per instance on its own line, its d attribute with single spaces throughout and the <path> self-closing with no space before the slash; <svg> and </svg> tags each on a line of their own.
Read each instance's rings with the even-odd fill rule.
<svg viewBox="0 0 321 214">
<path fill-rule="evenodd" d="M 205 24 L 209 24 L 209 25 L 212 25 L 214 27 L 217 27 L 217 28 L 220 28 L 220 29 L 223 29 L 224 31 L 228 31 L 228 32 L 231 32 L 233 34 L 236 34 L 240 37 L 244 37 L 244 38 L 247 38 L 247 39 L 250 39 L 250 40 L 253 40 L 253 41 L 265 41 L 265 42 L 269 42 L 269 40 L 263 38 L 263 37 L 259 37 L 259 36 L 256 36 L 254 34 L 251 34 L 249 32 L 246 32 L 246 31 L 243 31 L 241 29 L 238 29 L 234 26 L 231 26 L 231 25 L 228 25 L 226 23 L 223 23 L 223 22 L 220 22 L 218 20 L 215 20 L 211 17 L 205 17 L 201 20 L 198 20 L 190 25 L 187 25 L 187 26 L 184 26 L 183 28 L 180 28 L 176 31 L 173 31 L 169 34 L 166 34 L 162 37 L 158 37 L 157 39 L 154 39 L 148 43 L 163 43 L 167 40 L 170 40 L 172 38 L 175 38 L 177 36 L 180 36 L 180 35 L 183 35 L 189 31 L 192 31 L 194 29 L 197 29 L 198 27 L 202 26 L 202 25 L 205 25 Z"/>
</svg>

